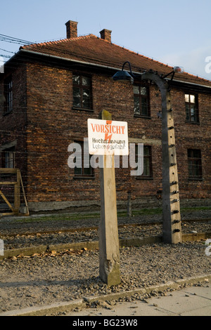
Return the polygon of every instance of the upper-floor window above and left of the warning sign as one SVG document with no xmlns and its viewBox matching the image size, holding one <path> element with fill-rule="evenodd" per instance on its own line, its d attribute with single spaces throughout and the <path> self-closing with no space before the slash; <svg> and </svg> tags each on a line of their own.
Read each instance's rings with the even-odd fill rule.
<svg viewBox="0 0 211 330">
<path fill-rule="evenodd" d="M 79 75 L 72 76 L 73 107 L 91 109 L 91 78 Z"/>
</svg>

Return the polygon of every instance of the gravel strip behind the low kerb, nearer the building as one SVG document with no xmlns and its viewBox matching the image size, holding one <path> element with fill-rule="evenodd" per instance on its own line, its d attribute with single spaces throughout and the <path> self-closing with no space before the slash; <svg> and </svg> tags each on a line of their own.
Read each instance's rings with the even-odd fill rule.
<svg viewBox="0 0 211 330">
<path fill-rule="evenodd" d="M 127 218 L 118 218 L 119 238 L 126 237 L 146 237 L 162 235 L 162 216 L 139 216 Z M 210 221 L 187 221 L 188 219 L 210 218 L 211 210 L 185 213 L 181 217 L 181 230 L 183 233 L 191 232 L 209 232 L 211 231 Z M 4 249 L 18 249 L 37 245 L 67 244 L 75 242 L 96 241 L 98 240 L 99 218 L 87 218 L 82 220 L 51 220 L 40 221 L 39 218 L 31 217 L 32 223 L 26 223 L 26 218 L 14 220 L 11 218 L 2 218 L 0 220 L 1 237 L 4 239 Z M 153 225 L 144 225 L 152 223 Z M 123 224 L 127 226 L 123 226 Z M 140 224 L 134 226 L 134 224 Z M 82 227 L 93 227 L 94 229 L 82 230 Z M 74 228 L 78 231 L 68 231 Z M 60 230 L 58 234 L 50 232 L 51 230 Z M 66 231 L 66 232 L 64 232 Z M 27 235 L 23 235 L 27 232 Z M 13 236 L 12 233 L 15 233 Z"/>
</svg>

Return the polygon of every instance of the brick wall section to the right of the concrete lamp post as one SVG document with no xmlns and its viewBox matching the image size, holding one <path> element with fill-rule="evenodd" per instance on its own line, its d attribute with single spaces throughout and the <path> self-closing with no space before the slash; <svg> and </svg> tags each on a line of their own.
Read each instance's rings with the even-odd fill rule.
<svg viewBox="0 0 211 330">
<path fill-rule="evenodd" d="M 198 94 L 200 124 L 186 122 L 184 91 L 172 93 L 174 108 L 174 126 L 177 145 L 177 164 L 179 190 L 181 198 L 210 198 L 211 193 L 211 98 L 210 95 Z M 188 178 L 188 149 L 200 149 L 202 157 L 203 180 Z"/>
</svg>

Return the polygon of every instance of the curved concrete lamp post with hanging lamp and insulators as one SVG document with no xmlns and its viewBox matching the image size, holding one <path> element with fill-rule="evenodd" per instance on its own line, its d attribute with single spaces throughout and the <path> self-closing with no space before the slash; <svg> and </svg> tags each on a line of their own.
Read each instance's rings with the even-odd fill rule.
<svg viewBox="0 0 211 330">
<path fill-rule="evenodd" d="M 129 64 L 129 70 L 124 65 Z M 160 88 L 162 99 L 162 240 L 165 243 L 181 242 L 181 216 L 179 205 L 179 184 L 177 173 L 177 157 L 174 136 L 174 118 L 171 106 L 170 86 L 167 76 L 174 77 L 175 72 L 183 72 L 180 67 L 165 76 L 149 70 L 140 75 L 134 75 L 129 62 L 124 62 L 122 70 L 113 76 L 113 80 L 127 80 L 132 84 L 134 79 L 151 80 Z"/>
</svg>

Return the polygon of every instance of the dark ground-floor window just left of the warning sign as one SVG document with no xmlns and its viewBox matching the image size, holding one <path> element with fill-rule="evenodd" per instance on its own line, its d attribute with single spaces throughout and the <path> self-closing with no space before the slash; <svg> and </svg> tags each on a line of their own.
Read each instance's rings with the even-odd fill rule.
<svg viewBox="0 0 211 330">
<path fill-rule="evenodd" d="M 77 141 L 75 143 L 78 143 L 82 148 L 82 152 L 77 156 L 80 158 L 82 166 L 74 168 L 75 178 L 94 178 L 94 170 L 90 166 L 91 156 L 88 153 L 88 150 L 84 150 L 83 142 Z"/>
</svg>

